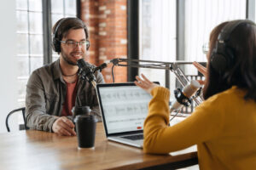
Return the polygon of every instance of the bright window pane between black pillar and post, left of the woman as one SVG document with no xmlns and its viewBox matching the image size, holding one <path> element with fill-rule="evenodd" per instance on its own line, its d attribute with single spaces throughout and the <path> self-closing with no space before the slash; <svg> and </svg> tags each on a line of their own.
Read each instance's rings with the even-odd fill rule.
<svg viewBox="0 0 256 170">
<path fill-rule="evenodd" d="M 140 1 L 140 59 L 176 60 L 176 0 Z M 165 71 L 139 69 L 150 80 L 165 86 Z M 171 79 L 173 79 L 171 75 Z M 171 80 L 171 88 L 173 87 Z"/>
</svg>

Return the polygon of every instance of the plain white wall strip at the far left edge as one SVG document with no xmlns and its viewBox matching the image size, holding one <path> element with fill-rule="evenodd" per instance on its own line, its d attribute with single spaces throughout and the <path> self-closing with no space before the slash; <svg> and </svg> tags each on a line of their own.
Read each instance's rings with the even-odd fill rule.
<svg viewBox="0 0 256 170">
<path fill-rule="evenodd" d="M 0 23 L 0 133 L 4 133 L 8 112 L 18 107 L 15 1 L 0 1 Z"/>
</svg>

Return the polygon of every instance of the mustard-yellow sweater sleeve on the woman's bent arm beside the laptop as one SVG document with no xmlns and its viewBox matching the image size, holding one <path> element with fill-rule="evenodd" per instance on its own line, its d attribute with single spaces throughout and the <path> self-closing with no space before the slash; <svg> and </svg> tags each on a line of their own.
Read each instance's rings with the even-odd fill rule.
<svg viewBox="0 0 256 170">
<path fill-rule="evenodd" d="M 194 144 L 216 138 L 224 124 L 218 111 L 217 99 L 205 101 L 183 122 L 169 127 L 170 91 L 156 87 L 151 92 L 153 99 L 148 105 L 148 116 L 144 122 L 144 144 L 146 153 L 169 153 L 183 150 Z"/>
</svg>

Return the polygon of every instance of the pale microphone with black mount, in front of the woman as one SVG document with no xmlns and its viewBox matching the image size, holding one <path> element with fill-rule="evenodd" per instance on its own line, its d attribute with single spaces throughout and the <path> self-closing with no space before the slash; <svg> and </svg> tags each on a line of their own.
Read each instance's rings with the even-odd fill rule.
<svg viewBox="0 0 256 170">
<path fill-rule="evenodd" d="M 191 80 L 191 82 L 183 88 L 183 90 L 177 88 L 174 90 L 176 101 L 171 107 L 170 113 L 172 111 L 178 111 L 182 108 L 183 105 L 189 106 L 191 104 L 191 99 L 189 99 L 198 88 L 201 88 L 201 85 L 199 82 L 195 80 Z"/>
</svg>

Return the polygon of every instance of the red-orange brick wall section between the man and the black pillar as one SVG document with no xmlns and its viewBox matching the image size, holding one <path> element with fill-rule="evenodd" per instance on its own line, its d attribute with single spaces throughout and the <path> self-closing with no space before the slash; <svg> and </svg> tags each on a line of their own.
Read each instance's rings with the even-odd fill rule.
<svg viewBox="0 0 256 170">
<path fill-rule="evenodd" d="M 114 58 L 127 58 L 126 0 L 81 0 L 81 19 L 89 29 L 87 61 L 101 65 Z M 112 64 L 102 71 L 105 82 L 113 82 Z M 115 66 L 114 82 L 127 82 L 127 67 Z"/>
</svg>

